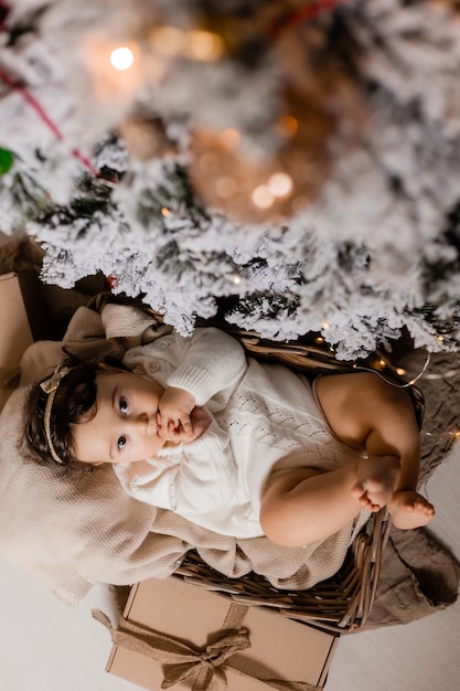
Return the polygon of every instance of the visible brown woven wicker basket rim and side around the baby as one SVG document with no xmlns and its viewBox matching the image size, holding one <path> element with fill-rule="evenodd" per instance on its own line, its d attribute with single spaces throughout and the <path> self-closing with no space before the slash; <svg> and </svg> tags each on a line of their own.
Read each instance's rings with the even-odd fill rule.
<svg viewBox="0 0 460 691">
<path fill-rule="evenodd" d="M 210 326 L 210 322 L 206 323 Z M 420 390 L 407 384 L 396 365 L 382 352 L 373 352 L 360 362 L 338 361 L 333 351 L 318 334 L 308 334 L 296 342 L 280 343 L 220 322 L 213 322 L 212 326 L 224 328 L 238 339 L 248 355 L 280 362 L 307 375 L 376 371 L 393 383 L 407 387 L 421 427 L 424 396 Z M 361 628 L 371 613 L 389 529 L 391 520 L 386 509 L 374 513 L 354 540 L 340 571 L 307 591 L 276 588 L 256 573 L 228 578 L 205 564 L 194 551 L 188 553 L 174 575 L 188 583 L 218 592 L 237 603 L 276 608 L 284 616 L 343 634 Z"/>
</svg>

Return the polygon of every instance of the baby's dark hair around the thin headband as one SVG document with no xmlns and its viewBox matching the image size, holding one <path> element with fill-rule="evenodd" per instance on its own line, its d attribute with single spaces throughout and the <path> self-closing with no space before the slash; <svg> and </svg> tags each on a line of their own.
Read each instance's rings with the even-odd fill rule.
<svg viewBox="0 0 460 691">
<path fill-rule="evenodd" d="M 50 416 L 50 434 L 54 450 L 63 466 L 77 460 L 72 426 L 83 418 L 92 419 L 96 414 L 97 370 L 97 364 L 78 363 L 61 380 L 55 392 Z M 44 422 L 47 397 L 49 394 L 42 390 L 39 382 L 32 386 L 24 404 L 24 443 L 36 460 L 53 460 Z"/>
</svg>

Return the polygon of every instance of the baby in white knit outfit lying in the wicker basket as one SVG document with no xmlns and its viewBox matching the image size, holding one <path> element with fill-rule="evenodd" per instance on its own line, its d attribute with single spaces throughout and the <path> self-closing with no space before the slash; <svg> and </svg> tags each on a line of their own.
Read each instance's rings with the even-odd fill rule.
<svg viewBox="0 0 460 691">
<path fill-rule="evenodd" d="M 302 546 L 387 507 L 425 525 L 407 392 L 246 359 L 217 329 L 131 349 L 122 369 L 58 368 L 32 389 L 25 438 L 55 463 L 113 464 L 125 490 L 215 532 Z"/>
</svg>

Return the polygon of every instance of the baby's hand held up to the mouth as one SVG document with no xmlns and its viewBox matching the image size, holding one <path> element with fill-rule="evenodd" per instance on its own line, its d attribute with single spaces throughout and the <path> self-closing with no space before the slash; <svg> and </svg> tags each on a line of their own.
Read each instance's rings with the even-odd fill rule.
<svg viewBox="0 0 460 691">
<path fill-rule="evenodd" d="M 194 438 L 191 413 L 195 398 L 184 389 L 169 386 L 158 404 L 158 433 L 170 442 L 191 442 Z"/>
</svg>

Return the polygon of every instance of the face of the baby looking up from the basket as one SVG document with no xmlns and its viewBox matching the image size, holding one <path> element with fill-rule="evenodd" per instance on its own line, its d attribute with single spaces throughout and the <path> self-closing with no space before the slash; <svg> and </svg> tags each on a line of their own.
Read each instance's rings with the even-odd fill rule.
<svg viewBox="0 0 460 691">
<path fill-rule="evenodd" d="M 167 442 L 157 426 L 161 386 L 131 372 L 100 372 L 96 385 L 96 415 L 73 428 L 77 458 L 117 464 L 154 456 Z"/>
</svg>

